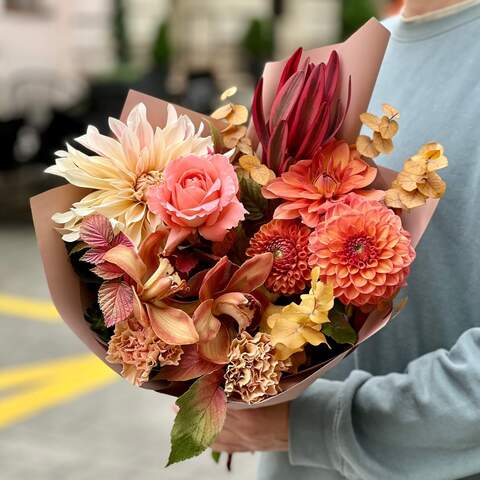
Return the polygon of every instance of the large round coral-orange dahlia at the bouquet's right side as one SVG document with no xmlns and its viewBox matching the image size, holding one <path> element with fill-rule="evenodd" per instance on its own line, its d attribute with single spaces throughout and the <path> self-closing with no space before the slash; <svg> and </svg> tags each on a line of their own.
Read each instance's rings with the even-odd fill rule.
<svg viewBox="0 0 480 480">
<path fill-rule="evenodd" d="M 344 304 L 376 305 L 405 285 L 415 250 L 400 217 L 350 194 L 327 210 L 310 236 L 309 265 Z"/>
</svg>

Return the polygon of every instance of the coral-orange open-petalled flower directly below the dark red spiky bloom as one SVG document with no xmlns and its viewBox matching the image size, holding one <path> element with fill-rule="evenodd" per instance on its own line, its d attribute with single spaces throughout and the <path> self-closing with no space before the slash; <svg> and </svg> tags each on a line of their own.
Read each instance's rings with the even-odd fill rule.
<svg viewBox="0 0 480 480">
<path fill-rule="evenodd" d="M 274 212 L 275 219 L 302 218 L 316 227 L 332 202 L 350 192 L 374 200 L 383 198 L 378 190 L 363 190 L 377 175 L 377 169 L 362 160 L 354 147 L 333 141 L 319 150 L 311 160 L 300 160 L 288 172 L 263 187 L 265 198 L 285 200 Z"/>
</svg>

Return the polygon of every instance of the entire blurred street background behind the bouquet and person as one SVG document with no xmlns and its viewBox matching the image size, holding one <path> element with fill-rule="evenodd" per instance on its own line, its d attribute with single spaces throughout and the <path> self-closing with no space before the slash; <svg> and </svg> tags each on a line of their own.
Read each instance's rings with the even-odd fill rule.
<svg viewBox="0 0 480 480">
<path fill-rule="evenodd" d="M 43 170 L 65 141 L 88 124 L 106 132 L 107 117 L 119 115 L 129 88 L 208 113 L 220 92 L 237 85 L 240 103 L 249 104 L 266 61 L 298 46 L 340 41 L 401 4 L 0 0 L 2 480 L 253 475 L 248 455 L 234 461 L 230 477 L 209 458 L 163 470 L 171 400 L 130 388 L 103 365 L 76 357 L 85 350 L 49 303 L 28 198 L 56 184 Z M 68 390 L 68 374 L 63 381 L 59 372 L 72 358 L 92 369 L 90 387 Z M 53 382 L 50 389 L 22 390 L 26 372 Z"/>
</svg>

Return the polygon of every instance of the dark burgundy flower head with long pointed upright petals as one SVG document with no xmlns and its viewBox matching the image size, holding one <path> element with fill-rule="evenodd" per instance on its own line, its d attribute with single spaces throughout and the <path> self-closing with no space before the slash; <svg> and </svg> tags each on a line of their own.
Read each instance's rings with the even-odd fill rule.
<svg viewBox="0 0 480 480">
<path fill-rule="evenodd" d="M 277 175 L 294 162 L 311 159 L 340 130 L 350 103 L 337 100 L 340 62 L 334 50 L 327 64 L 308 58 L 300 65 L 299 48 L 282 71 L 268 118 L 263 107 L 263 78 L 257 84 L 252 103 L 252 120 L 262 159 Z"/>
</svg>

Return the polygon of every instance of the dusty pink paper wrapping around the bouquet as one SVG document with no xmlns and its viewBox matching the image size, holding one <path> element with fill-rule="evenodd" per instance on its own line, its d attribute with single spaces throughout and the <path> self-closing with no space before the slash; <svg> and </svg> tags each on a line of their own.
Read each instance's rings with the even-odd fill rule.
<svg viewBox="0 0 480 480">
<path fill-rule="evenodd" d="M 333 49 L 339 52 L 342 62 L 340 97 L 345 94 L 348 77 L 351 75 L 352 101 L 345 124 L 340 132 L 341 138 L 345 138 L 349 142 L 354 142 L 358 135 L 360 129 L 358 117 L 360 113 L 367 109 L 388 37 L 387 30 L 376 20 L 372 19 L 346 42 L 311 50 L 304 54 L 315 62 L 325 62 Z M 273 92 L 284 63 L 285 61 L 272 62 L 265 67 L 264 93 L 266 111 L 268 111 L 271 105 Z M 143 102 L 146 105 L 148 119 L 153 126 L 163 126 L 165 124 L 167 102 L 136 91 L 130 91 L 128 94 L 121 115 L 123 121 L 125 121 L 128 113 L 139 102 Z M 197 127 L 204 122 L 205 135 L 209 133 L 208 125 L 205 123 L 207 118 L 217 126 L 221 125 L 218 121 L 196 112 L 179 106 L 175 106 L 175 108 L 179 114 L 188 115 Z M 388 187 L 395 175 L 395 172 L 380 167 L 375 185 L 376 188 L 385 189 Z M 54 213 L 68 210 L 74 202 L 79 201 L 87 193 L 88 190 L 65 185 L 33 197 L 31 199 L 33 222 L 50 294 L 60 316 L 95 355 L 119 373 L 121 369 L 119 365 L 111 365 L 106 362 L 106 346 L 96 338 L 94 332 L 90 330 L 88 322 L 84 319 L 84 311 L 87 305 L 82 286 L 70 264 L 65 245 L 59 233 L 55 230 L 55 224 L 51 220 Z M 405 228 L 412 234 L 414 245 L 418 243 L 425 231 L 436 204 L 437 202 L 429 201 L 424 207 L 416 208 L 403 215 Z M 391 308 L 387 311 L 376 310 L 372 312 L 362 326 L 359 332 L 358 343 L 355 346 L 324 364 L 310 367 L 295 376 L 287 377 L 282 382 L 283 392 L 279 395 L 253 406 L 238 401 L 231 401 L 231 408 L 258 408 L 293 400 L 316 379 L 324 375 L 327 370 L 341 362 L 360 343 L 383 328 L 390 317 Z M 171 395 L 178 395 L 185 388 L 183 384 L 168 381 L 149 382 L 144 384 L 143 387 Z"/>
</svg>

